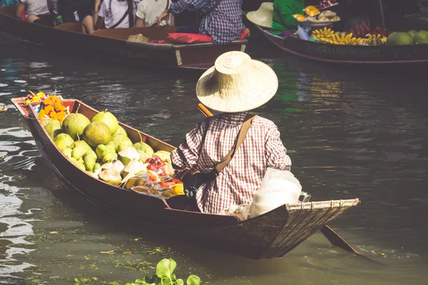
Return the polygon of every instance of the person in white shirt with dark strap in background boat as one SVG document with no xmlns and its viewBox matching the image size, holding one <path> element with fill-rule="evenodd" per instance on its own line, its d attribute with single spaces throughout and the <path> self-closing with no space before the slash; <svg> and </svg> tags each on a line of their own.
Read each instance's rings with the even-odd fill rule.
<svg viewBox="0 0 428 285">
<path fill-rule="evenodd" d="M 104 0 L 98 11 L 96 28 L 132 28 L 140 0 Z"/>
</svg>

